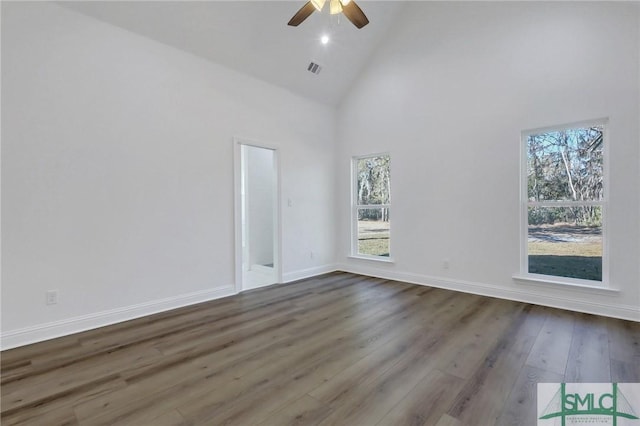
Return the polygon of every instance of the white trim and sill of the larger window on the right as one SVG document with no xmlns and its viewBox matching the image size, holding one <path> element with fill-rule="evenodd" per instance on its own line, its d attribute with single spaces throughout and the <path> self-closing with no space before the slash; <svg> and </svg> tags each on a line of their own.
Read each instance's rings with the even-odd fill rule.
<svg viewBox="0 0 640 426">
<path fill-rule="evenodd" d="M 604 199 L 602 201 L 542 201 L 530 202 L 527 188 L 527 138 L 533 134 L 552 131 L 563 131 L 568 129 L 602 126 L 604 147 L 603 153 L 603 179 L 604 179 Z M 586 289 L 610 289 L 609 282 L 609 238 L 608 238 L 608 199 L 609 199 L 609 119 L 599 118 L 595 120 L 585 120 L 558 126 L 541 127 L 537 129 L 525 130 L 520 137 L 520 272 L 513 275 L 514 280 L 523 282 L 545 283 L 558 286 L 570 286 Z M 557 275 L 541 275 L 529 273 L 528 254 L 528 207 L 571 207 L 571 206 L 601 206 L 602 208 L 602 281 L 584 280 L 578 278 L 561 277 Z"/>
</svg>

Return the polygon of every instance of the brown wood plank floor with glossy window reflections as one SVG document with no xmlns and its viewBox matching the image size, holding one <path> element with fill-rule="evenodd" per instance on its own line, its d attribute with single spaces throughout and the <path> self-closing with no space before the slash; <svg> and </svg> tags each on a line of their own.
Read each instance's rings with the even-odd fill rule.
<svg viewBox="0 0 640 426">
<path fill-rule="evenodd" d="M 640 382 L 640 324 L 332 273 L 5 351 L 0 420 L 533 425 L 562 381 Z"/>
</svg>

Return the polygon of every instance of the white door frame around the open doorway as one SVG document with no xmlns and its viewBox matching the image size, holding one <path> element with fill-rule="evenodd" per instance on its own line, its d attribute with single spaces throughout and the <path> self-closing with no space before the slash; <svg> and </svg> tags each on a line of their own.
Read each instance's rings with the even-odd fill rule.
<svg viewBox="0 0 640 426">
<path fill-rule="evenodd" d="M 274 206 L 273 206 L 273 269 L 276 284 L 282 283 L 282 220 L 281 220 L 281 194 L 280 194 L 280 150 L 273 144 L 265 144 L 242 137 L 233 137 L 233 195 L 234 195 L 234 223 L 235 223 L 235 291 L 239 293 L 244 288 L 244 271 L 242 268 L 242 146 L 269 149 L 273 151 L 274 167 Z"/>
</svg>

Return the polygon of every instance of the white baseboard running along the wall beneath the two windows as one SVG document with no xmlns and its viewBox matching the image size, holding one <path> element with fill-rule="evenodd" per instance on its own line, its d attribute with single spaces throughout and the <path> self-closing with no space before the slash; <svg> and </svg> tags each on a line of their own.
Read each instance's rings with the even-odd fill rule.
<svg viewBox="0 0 640 426">
<path fill-rule="evenodd" d="M 602 315 L 612 318 L 620 318 L 630 321 L 640 322 L 640 307 L 634 305 L 624 305 L 618 302 L 606 303 L 605 299 L 610 299 L 613 295 L 599 294 L 602 302 L 592 302 L 576 300 L 570 297 L 549 294 L 549 292 L 533 292 L 525 286 L 522 288 L 504 288 L 490 284 L 450 280 L 446 278 L 431 277 L 427 275 L 413 274 L 407 272 L 397 272 L 387 269 L 380 269 L 369 265 L 337 265 L 337 270 L 351 272 L 354 274 L 368 275 L 377 278 L 384 278 L 396 281 L 403 281 L 411 284 L 424 285 L 429 287 L 443 288 L 447 290 L 472 293 L 480 296 L 497 297 L 517 302 L 533 303 L 536 305 L 549 306 L 552 308 L 566 309 L 576 312 L 584 312 L 594 315 Z M 596 290 L 597 291 L 597 290 Z"/>
</svg>

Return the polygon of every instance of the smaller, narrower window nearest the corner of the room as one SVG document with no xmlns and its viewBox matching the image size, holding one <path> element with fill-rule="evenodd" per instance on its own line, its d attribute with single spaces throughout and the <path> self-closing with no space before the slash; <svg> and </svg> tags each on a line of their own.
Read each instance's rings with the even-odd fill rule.
<svg viewBox="0 0 640 426">
<path fill-rule="evenodd" d="M 352 255 L 389 258 L 391 208 L 388 154 L 355 157 L 353 173 Z"/>
</svg>

